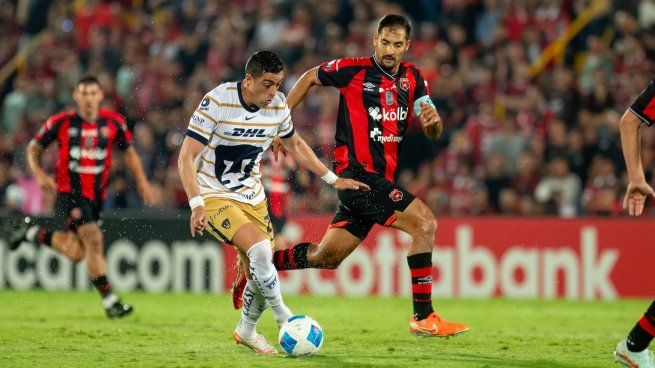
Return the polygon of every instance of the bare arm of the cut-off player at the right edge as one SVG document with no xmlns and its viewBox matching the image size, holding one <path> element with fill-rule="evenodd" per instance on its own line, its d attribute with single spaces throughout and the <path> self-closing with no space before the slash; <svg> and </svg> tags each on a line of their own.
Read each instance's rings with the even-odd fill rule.
<svg viewBox="0 0 655 368">
<path fill-rule="evenodd" d="M 630 110 L 626 111 L 619 124 L 621 147 L 628 169 L 628 188 L 623 199 L 623 209 L 630 216 L 639 216 L 644 210 L 646 198 L 655 196 L 653 188 L 646 182 L 644 168 L 641 164 L 641 120 Z"/>
</svg>

